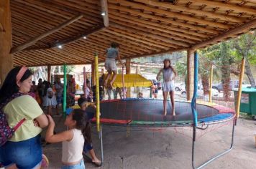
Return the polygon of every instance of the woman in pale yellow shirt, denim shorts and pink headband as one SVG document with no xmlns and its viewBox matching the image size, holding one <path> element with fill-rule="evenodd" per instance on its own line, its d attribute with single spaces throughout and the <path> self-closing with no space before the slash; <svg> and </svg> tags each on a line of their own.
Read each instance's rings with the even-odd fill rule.
<svg viewBox="0 0 256 169">
<path fill-rule="evenodd" d="M 27 95 L 31 87 L 32 72 L 27 67 L 15 67 L 0 89 L 1 113 L 6 115 L 8 125 L 14 127 L 24 121 L 0 146 L 0 162 L 6 169 L 41 168 L 40 132 L 48 120 L 37 101 Z"/>
</svg>

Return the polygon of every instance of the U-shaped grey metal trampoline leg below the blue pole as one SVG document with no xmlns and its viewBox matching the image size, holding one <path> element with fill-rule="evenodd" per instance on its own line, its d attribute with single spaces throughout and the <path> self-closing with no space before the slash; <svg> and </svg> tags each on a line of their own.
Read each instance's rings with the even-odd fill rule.
<svg viewBox="0 0 256 169">
<path fill-rule="evenodd" d="M 201 164 L 200 166 L 198 166 L 197 168 L 203 168 L 204 166 L 208 165 L 209 163 L 211 163 L 212 161 L 216 160 L 217 158 L 221 157 L 222 155 L 225 155 L 227 153 L 229 153 L 229 151 L 232 150 L 233 148 L 233 143 L 234 143 L 234 124 L 235 124 L 235 119 L 233 120 L 233 126 L 232 126 L 232 140 L 231 140 L 231 145 L 230 148 L 228 150 L 224 150 L 224 152 L 219 153 L 219 155 L 214 156 L 213 158 L 207 160 L 205 163 Z M 192 144 L 192 167 L 195 167 L 194 164 L 194 148 L 195 148 L 195 143 L 196 143 L 196 129 L 194 129 L 193 126 L 193 144 Z"/>
</svg>

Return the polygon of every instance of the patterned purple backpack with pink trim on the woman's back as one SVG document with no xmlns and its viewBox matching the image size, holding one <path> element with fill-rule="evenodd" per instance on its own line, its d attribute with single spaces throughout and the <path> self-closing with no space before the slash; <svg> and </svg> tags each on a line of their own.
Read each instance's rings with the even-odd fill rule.
<svg viewBox="0 0 256 169">
<path fill-rule="evenodd" d="M 15 98 L 22 96 L 22 95 L 24 95 L 24 94 L 22 94 L 20 92 L 14 93 L 14 95 L 12 95 L 12 97 L 10 97 L 9 99 L 6 99 L 0 105 L 0 146 L 4 145 L 4 143 L 6 143 L 6 141 L 8 141 L 8 139 L 10 137 L 12 137 L 12 135 L 14 135 L 14 132 L 26 120 L 25 118 L 22 119 L 21 121 L 18 122 L 18 124 L 15 127 L 11 128 L 8 125 L 8 121 L 6 119 L 6 114 L 4 113 L 4 110 L 3 110 L 4 106 L 6 106 L 9 102 L 11 102 Z"/>
</svg>

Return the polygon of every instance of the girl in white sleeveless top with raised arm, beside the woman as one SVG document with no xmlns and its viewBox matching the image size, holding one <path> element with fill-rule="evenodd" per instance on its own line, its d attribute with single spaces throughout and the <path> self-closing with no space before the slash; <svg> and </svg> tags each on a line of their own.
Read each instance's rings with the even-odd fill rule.
<svg viewBox="0 0 256 169">
<path fill-rule="evenodd" d="M 86 114 L 81 109 L 75 109 L 65 120 L 65 125 L 68 130 L 54 134 L 53 130 L 55 122 L 50 115 L 49 127 L 45 135 L 47 143 L 63 143 L 62 163 L 63 169 L 76 168 L 85 169 L 83 162 L 83 145 L 84 143 L 91 143 L 91 130 Z"/>
</svg>

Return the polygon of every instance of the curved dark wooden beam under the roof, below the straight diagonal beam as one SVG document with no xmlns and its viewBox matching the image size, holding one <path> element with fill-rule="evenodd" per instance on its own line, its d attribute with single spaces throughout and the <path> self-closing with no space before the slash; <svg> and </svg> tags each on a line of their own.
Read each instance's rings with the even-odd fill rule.
<svg viewBox="0 0 256 169">
<path fill-rule="evenodd" d="M 28 48 L 28 49 L 26 49 L 26 50 L 50 49 L 50 48 L 53 48 L 53 47 L 58 47 L 58 45 L 69 44 L 69 43 L 75 42 L 75 41 L 77 41 L 78 39 L 81 39 L 81 38 L 83 38 L 83 37 L 87 37 L 87 36 L 90 35 L 90 34 L 93 34 L 93 33 L 95 33 L 95 32 L 98 32 L 98 31 L 100 31 L 101 29 L 104 29 L 104 26 L 103 26 L 103 25 L 96 26 L 96 27 L 94 27 L 93 29 L 88 30 L 88 31 L 85 32 L 85 33 L 78 34 L 78 35 L 76 35 L 76 37 L 69 37 L 68 39 L 60 40 L 60 41 L 57 42 L 57 43 L 49 44 L 49 45 L 47 45 L 47 46 L 45 46 L 45 47 L 33 47 L 33 48 Z"/>
</svg>

